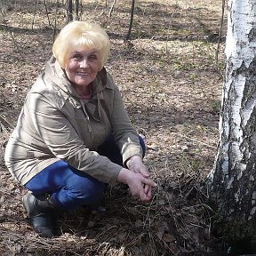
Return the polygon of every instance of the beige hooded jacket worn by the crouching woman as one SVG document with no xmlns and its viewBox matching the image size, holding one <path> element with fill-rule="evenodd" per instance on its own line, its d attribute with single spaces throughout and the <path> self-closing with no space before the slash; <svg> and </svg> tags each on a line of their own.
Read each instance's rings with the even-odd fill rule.
<svg viewBox="0 0 256 256">
<path fill-rule="evenodd" d="M 32 86 L 5 150 L 5 164 L 24 185 L 62 159 L 77 170 L 115 185 L 122 166 L 95 150 L 114 132 L 125 161 L 142 150 L 121 94 L 105 68 L 92 85 L 92 100 L 81 100 L 52 57 Z"/>
</svg>

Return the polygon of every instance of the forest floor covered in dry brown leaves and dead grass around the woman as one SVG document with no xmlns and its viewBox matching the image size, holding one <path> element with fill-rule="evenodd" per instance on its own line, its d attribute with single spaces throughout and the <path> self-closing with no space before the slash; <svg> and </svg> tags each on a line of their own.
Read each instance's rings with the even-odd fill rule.
<svg viewBox="0 0 256 256">
<path fill-rule="evenodd" d="M 53 28 L 66 23 L 65 8 L 54 0 L 1 1 L 0 255 L 221 255 L 201 185 L 212 170 L 219 137 L 222 1 L 137 1 L 132 35 L 125 41 L 130 2 L 117 1 L 109 17 L 112 1 L 84 1 L 82 20 L 98 22 L 108 32 L 112 49 L 106 68 L 132 124 L 145 137 L 145 163 L 158 184 L 154 198 L 141 204 L 124 186 L 108 188 L 107 212 L 65 213 L 58 222 L 60 236 L 47 239 L 28 223 L 21 205 L 26 191 L 6 169 L 4 147 L 52 54 Z"/>
</svg>

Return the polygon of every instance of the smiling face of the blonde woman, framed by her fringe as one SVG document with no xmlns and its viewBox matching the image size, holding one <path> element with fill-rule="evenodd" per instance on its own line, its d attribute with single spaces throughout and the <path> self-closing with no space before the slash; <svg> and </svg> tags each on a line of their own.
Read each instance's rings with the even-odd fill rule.
<svg viewBox="0 0 256 256">
<path fill-rule="evenodd" d="M 96 50 L 71 52 L 65 68 L 68 79 L 78 87 L 91 84 L 101 68 L 99 57 Z"/>
</svg>

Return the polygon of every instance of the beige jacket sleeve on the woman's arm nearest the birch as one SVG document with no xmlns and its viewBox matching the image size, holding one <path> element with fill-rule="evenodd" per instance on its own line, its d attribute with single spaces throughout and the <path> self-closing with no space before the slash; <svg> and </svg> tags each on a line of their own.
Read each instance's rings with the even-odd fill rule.
<svg viewBox="0 0 256 256">
<path fill-rule="evenodd" d="M 111 76 L 108 76 L 108 79 L 114 84 Z M 142 158 L 139 135 L 131 124 L 127 111 L 124 108 L 124 101 L 121 93 L 116 85 L 111 123 L 116 143 L 123 156 L 123 163 L 132 156 L 140 156 Z"/>
</svg>

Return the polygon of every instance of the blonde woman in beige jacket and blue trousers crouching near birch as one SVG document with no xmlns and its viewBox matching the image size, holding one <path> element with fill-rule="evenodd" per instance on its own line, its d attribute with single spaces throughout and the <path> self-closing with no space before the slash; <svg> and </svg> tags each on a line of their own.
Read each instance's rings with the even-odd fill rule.
<svg viewBox="0 0 256 256">
<path fill-rule="evenodd" d="M 142 202 L 156 187 L 142 163 L 143 140 L 103 67 L 109 45 L 97 24 L 63 28 L 8 141 L 6 166 L 28 188 L 23 205 L 42 236 L 54 236 L 55 210 L 97 203 L 106 183 L 127 184 Z"/>
</svg>

